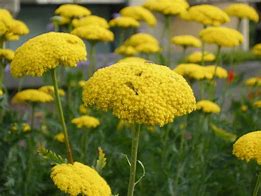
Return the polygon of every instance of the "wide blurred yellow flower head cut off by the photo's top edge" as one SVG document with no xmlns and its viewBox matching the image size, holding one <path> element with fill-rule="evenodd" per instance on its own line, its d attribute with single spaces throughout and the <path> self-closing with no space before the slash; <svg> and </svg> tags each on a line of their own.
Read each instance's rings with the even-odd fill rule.
<svg viewBox="0 0 261 196">
<path fill-rule="evenodd" d="M 185 12 L 189 4 L 185 0 L 147 0 L 144 7 L 164 15 L 178 15 Z"/>
</svg>

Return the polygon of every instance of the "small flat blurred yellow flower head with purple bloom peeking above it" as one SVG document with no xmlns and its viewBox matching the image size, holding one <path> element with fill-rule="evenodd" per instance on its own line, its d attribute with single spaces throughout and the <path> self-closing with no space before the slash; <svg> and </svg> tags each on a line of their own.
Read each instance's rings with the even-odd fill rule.
<svg viewBox="0 0 261 196">
<path fill-rule="evenodd" d="M 140 26 L 140 23 L 134 18 L 127 16 L 119 16 L 110 20 L 109 25 L 111 27 L 121 27 L 121 28 L 137 28 Z"/>
</svg>

